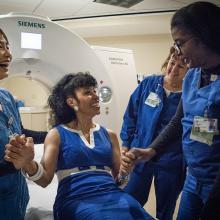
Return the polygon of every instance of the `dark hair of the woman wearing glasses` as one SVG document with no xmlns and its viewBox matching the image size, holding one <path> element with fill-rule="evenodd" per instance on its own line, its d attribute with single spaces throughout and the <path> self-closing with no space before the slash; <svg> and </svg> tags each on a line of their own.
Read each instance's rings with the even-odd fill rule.
<svg viewBox="0 0 220 220">
<path fill-rule="evenodd" d="M 195 2 L 176 11 L 171 29 L 184 28 L 213 52 L 220 54 L 220 7 L 210 2 Z"/>
</svg>

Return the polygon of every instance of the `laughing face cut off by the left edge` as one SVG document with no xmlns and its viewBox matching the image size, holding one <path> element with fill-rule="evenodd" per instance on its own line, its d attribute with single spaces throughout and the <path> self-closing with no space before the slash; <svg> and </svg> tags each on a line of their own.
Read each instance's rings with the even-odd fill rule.
<svg viewBox="0 0 220 220">
<path fill-rule="evenodd" d="M 0 32 L 0 80 L 8 76 L 8 67 L 11 59 L 8 41 Z"/>
</svg>

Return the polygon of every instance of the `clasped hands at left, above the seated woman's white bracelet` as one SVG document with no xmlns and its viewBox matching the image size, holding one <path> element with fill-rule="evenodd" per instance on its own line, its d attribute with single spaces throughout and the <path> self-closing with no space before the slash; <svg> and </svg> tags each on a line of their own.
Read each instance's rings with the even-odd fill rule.
<svg viewBox="0 0 220 220">
<path fill-rule="evenodd" d="M 34 142 L 31 137 L 16 135 L 5 147 L 4 159 L 12 162 L 16 169 L 25 167 L 34 159 Z"/>
</svg>

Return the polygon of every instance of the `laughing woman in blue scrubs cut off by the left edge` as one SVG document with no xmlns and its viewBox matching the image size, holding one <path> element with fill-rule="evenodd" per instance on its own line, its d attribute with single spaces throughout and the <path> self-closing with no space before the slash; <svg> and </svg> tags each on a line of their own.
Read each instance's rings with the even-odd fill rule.
<svg viewBox="0 0 220 220">
<path fill-rule="evenodd" d="M 5 33 L 0 29 L 0 80 L 8 75 L 12 56 Z M 36 142 L 43 142 L 46 132 L 35 132 L 24 129 L 12 95 L 0 88 L 0 219 L 23 220 L 29 200 L 25 178 L 12 163 L 4 160 L 5 145 L 9 136 L 25 133 L 34 136 Z"/>
</svg>

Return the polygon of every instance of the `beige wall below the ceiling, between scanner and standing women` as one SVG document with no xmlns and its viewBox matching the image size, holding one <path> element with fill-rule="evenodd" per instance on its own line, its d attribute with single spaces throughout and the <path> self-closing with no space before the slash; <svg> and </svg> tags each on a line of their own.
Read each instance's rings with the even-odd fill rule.
<svg viewBox="0 0 220 220">
<path fill-rule="evenodd" d="M 170 34 L 84 38 L 90 45 L 131 49 L 138 74 L 160 72 L 172 39 Z"/>
</svg>

